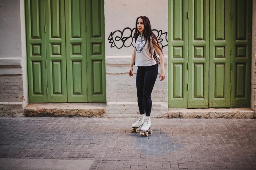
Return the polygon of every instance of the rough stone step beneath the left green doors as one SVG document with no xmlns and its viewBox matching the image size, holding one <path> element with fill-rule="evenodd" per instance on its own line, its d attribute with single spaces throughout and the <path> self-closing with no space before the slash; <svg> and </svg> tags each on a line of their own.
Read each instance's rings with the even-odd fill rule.
<svg viewBox="0 0 256 170">
<path fill-rule="evenodd" d="M 106 103 L 33 103 L 24 112 L 27 117 L 103 117 Z"/>
</svg>

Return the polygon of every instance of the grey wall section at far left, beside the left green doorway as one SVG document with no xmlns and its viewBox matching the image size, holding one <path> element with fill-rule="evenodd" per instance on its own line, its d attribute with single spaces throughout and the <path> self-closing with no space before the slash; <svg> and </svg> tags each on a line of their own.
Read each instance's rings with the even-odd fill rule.
<svg viewBox="0 0 256 170">
<path fill-rule="evenodd" d="M 22 116 L 27 84 L 19 0 L 0 1 L 0 23 L 0 114 Z"/>
</svg>

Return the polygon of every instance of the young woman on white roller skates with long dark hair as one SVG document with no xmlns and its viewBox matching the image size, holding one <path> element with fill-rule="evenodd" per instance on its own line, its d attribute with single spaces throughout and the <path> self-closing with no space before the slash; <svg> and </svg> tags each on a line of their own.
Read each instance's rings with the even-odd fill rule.
<svg viewBox="0 0 256 170">
<path fill-rule="evenodd" d="M 157 37 L 152 32 L 150 21 L 146 16 L 138 17 L 135 26 L 134 38 L 136 41 L 135 48 L 132 53 L 129 76 L 133 76 L 132 66 L 135 64 L 135 66 L 138 67 L 136 88 L 139 106 L 139 119 L 132 124 L 131 131 L 139 132 L 138 128 L 142 125 L 140 134 L 148 136 L 148 132 L 150 134 L 152 133 L 152 130 L 148 131 L 151 126 L 151 93 L 157 79 L 158 64 L 160 64 L 159 78 L 161 81 L 165 79 L 164 54 Z M 156 53 L 159 55 L 160 62 Z"/>
</svg>

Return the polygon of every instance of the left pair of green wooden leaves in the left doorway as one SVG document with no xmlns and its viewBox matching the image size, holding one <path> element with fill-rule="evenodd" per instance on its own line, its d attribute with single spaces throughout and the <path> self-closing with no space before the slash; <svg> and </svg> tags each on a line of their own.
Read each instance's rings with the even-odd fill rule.
<svg viewBox="0 0 256 170">
<path fill-rule="evenodd" d="M 67 102 L 64 0 L 25 6 L 29 102 Z"/>
</svg>

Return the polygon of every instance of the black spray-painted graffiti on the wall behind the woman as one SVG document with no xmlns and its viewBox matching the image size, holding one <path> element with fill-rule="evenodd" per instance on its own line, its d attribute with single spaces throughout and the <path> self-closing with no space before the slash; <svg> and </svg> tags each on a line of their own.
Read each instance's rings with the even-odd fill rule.
<svg viewBox="0 0 256 170">
<path fill-rule="evenodd" d="M 110 33 L 108 40 L 111 44 L 111 48 L 117 47 L 117 49 L 121 49 L 122 47 L 130 47 L 133 46 L 134 34 L 135 28 L 131 29 L 129 27 L 126 27 L 123 31 L 117 30 L 112 33 Z M 167 32 L 164 32 L 162 30 L 152 30 L 153 33 L 157 36 L 157 39 L 160 43 L 161 48 L 163 49 L 165 46 L 168 46 L 168 40 L 167 40 Z M 134 47 L 134 46 L 133 46 Z"/>
</svg>

